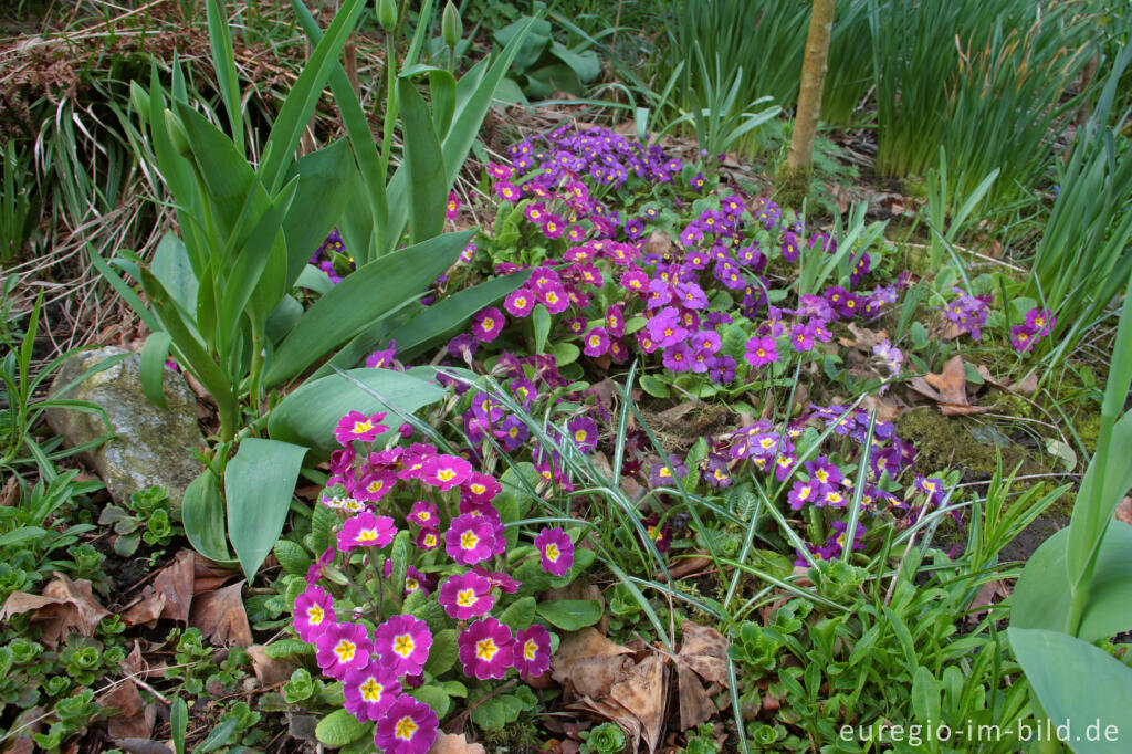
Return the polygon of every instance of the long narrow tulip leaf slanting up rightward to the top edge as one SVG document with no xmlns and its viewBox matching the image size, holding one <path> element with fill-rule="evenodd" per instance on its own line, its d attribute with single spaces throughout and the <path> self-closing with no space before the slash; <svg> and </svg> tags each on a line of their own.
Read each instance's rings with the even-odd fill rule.
<svg viewBox="0 0 1132 754">
<path fill-rule="evenodd" d="M 353 33 L 358 17 L 365 8 L 365 0 L 344 0 L 326 34 L 302 67 L 299 80 L 291 87 L 283 106 L 280 108 L 278 118 L 275 119 L 267 144 L 264 145 L 266 158 L 259 166 L 259 172 L 264 175 L 264 186 L 268 191 L 274 192 L 282 183 L 302 129 L 307 127 L 315 112 L 315 106 L 323 96 L 323 88 L 338 65 L 342 48 Z"/>
</svg>

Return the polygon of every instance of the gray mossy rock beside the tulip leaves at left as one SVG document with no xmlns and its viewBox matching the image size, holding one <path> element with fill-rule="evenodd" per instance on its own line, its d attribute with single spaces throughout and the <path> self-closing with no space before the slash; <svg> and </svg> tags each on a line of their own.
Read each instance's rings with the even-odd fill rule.
<svg viewBox="0 0 1132 754">
<path fill-rule="evenodd" d="M 87 369 L 111 357 L 129 353 L 117 365 L 92 375 L 65 397 L 91 401 L 106 410 L 114 437 L 83 457 L 106 482 L 111 497 L 122 503 L 130 495 L 161 485 L 174 505 L 180 505 L 188 487 L 204 466 L 192 456 L 204 449 L 205 438 L 197 426 L 197 401 L 185 378 L 165 370 L 165 409 L 149 403 L 142 391 L 142 359 L 125 349 L 82 351 L 59 369 L 54 389 L 78 378 Z M 101 414 L 68 409 L 48 411 L 48 423 L 74 447 L 106 435 Z"/>
</svg>

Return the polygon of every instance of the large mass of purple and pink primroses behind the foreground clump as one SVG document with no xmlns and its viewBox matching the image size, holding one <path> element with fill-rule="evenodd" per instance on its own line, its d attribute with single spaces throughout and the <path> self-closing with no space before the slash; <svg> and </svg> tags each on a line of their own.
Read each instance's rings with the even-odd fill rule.
<svg viewBox="0 0 1132 754">
<path fill-rule="evenodd" d="M 681 220 L 645 191 L 672 183 L 683 170 L 655 145 L 645 148 L 601 128 L 559 128 L 541 142 L 521 142 L 511 156 L 513 165 L 488 168 L 496 195 L 522 209 L 530 246 L 543 245 L 552 256 L 531 268 L 503 310 L 491 307 L 477 315 L 469 334 L 477 345 L 505 333 L 512 336 L 504 340 L 513 342 L 522 320 L 541 306 L 557 323 L 554 342 L 574 341 L 599 363 L 623 363 L 634 352 L 655 354 L 671 374 L 728 385 L 778 361 L 784 350 L 805 353 L 815 342 L 830 342 L 833 323 L 876 317 L 898 299 L 897 286 L 859 289 L 872 265 L 860 250 L 849 259 L 846 286 L 804 295 L 796 308 L 771 305 L 764 274 L 771 262 L 780 257 L 786 265 L 797 264 L 807 243 L 833 252 L 835 241 L 824 233 L 804 241 L 801 224 L 783 222 L 772 202 L 747 202 L 726 187 L 707 191 L 702 180 L 689 181 L 691 190 L 706 194 L 694 203 L 692 220 Z M 626 191 L 611 194 L 623 186 Z M 631 212 L 634 187 L 649 200 Z M 623 203 L 624 217 L 599 198 L 610 196 Z M 676 197 L 668 204 L 679 203 Z M 671 233 L 676 223 L 683 230 Z M 676 243 L 667 240 L 670 235 Z M 511 248 L 496 251 L 514 257 Z M 494 272 L 520 268 L 507 260 Z M 753 322 L 762 324 L 753 328 Z M 734 333 L 748 337 L 727 346 L 732 325 Z M 454 343 L 464 348 L 468 339 Z"/>
</svg>

